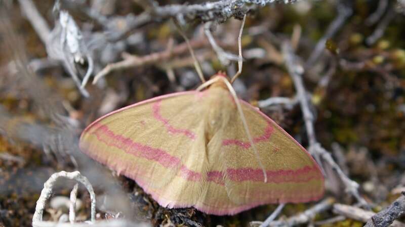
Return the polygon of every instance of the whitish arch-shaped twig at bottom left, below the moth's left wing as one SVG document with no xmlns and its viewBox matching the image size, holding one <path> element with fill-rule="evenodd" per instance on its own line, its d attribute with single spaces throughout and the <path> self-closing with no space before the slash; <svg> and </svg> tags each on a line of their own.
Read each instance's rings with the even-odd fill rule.
<svg viewBox="0 0 405 227">
<path fill-rule="evenodd" d="M 43 222 L 43 214 L 44 214 L 44 209 L 46 206 L 47 200 L 52 196 L 52 189 L 56 184 L 56 180 L 59 177 L 65 177 L 68 179 L 73 179 L 78 181 L 79 183 L 82 183 L 86 189 L 90 193 L 90 200 L 91 200 L 91 222 L 94 223 L 96 220 L 96 195 L 94 194 L 93 186 L 90 184 L 89 180 L 80 174 L 79 171 L 74 171 L 74 172 L 65 172 L 65 171 L 60 171 L 57 173 L 54 173 L 49 177 L 49 179 L 45 182 L 44 184 L 44 189 L 41 191 L 41 195 L 39 196 L 39 199 L 36 201 L 36 207 L 35 207 L 35 213 L 32 217 L 32 226 L 44 226 L 41 223 Z"/>
</svg>

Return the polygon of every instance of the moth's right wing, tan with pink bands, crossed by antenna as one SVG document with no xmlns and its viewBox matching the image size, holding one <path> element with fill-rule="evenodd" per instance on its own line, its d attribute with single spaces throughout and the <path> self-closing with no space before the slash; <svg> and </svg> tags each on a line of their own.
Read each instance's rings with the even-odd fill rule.
<svg viewBox="0 0 405 227">
<path fill-rule="evenodd" d="M 267 182 L 239 113 L 231 113 L 222 138 L 224 184 L 229 202 L 247 209 L 268 203 L 298 203 L 323 195 L 323 175 L 314 159 L 286 131 L 257 108 L 240 104 L 253 137 Z"/>
</svg>

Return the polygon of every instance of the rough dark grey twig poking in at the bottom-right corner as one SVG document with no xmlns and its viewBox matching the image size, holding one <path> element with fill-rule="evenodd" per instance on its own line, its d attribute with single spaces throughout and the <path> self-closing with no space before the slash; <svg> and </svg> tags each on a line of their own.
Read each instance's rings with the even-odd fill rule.
<svg viewBox="0 0 405 227">
<path fill-rule="evenodd" d="M 405 213 L 405 192 L 396 199 L 391 205 L 377 214 L 373 215 L 369 221 L 367 221 L 365 227 L 386 227 L 391 223 L 395 223 L 395 219 L 399 218 Z M 401 227 L 405 224 L 401 223 Z"/>
</svg>

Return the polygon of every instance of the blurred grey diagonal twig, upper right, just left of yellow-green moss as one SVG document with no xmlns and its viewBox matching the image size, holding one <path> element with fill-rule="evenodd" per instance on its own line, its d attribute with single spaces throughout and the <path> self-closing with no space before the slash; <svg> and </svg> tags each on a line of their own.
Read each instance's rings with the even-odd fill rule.
<svg viewBox="0 0 405 227">
<path fill-rule="evenodd" d="M 325 35 L 323 35 L 322 38 L 320 38 L 316 43 L 316 46 L 309 56 L 308 61 L 305 63 L 305 68 L 311 67 L 313 64 L 315 64 L 323 50 L 325 50 L 326 41 L 335 35 L 335 33 L 343 26 L 347 18 L 349 18 L 353 12 L 353 10 L 344 3 L 339 4 L 337 8 L 338 16 L 329 25 Z"/>
</svg>

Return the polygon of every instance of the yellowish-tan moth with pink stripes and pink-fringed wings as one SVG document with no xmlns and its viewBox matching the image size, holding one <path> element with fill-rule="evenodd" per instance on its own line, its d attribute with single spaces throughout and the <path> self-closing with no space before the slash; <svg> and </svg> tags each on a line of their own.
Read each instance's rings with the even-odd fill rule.
<svg viewBox="0 0 405 227">
<path fill-rule="evenodd" d="M 231 215 L 262 204 L 318 200 L 324 191 L 308 152 L 238 99 L 222 73 L 197 90 L 99 118 L 83 131 L 79 147 L 168 208 Z"/>
</svg>

